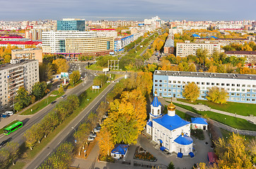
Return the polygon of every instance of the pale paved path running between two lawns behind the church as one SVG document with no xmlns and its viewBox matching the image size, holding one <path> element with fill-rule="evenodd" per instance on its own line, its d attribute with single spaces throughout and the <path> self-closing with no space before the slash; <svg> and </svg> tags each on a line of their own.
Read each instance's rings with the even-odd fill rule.
<svg viewBox="0 0 256 169">
<path fill-rule="evenodd" d="M 165 99 L 165 101 L 171 101 L 171 99 Z M 198 111 L 212 111 L 212 112 L 220 113 L 220 114 L 223 114 L 223 115 L 233 116 L 235 118 L 243 118 L 245 120 L 250 120 L 254 124 L 256 124 L 256 117 L 254 117 L 254 116 L 244 116 L 244 115 L 238 115 L 238 114 L 234 114 L 234 113 L 228 113 L 226 111 L 219 111 L 219 110 L 216 110 L 214 108 L 210 108 L 209 106 L 205 106 L 205 105 L 187 104 L 187 103 L 182 102 L 182 101 L 177 101 L 177 99 L 173 99 L 173 103 L 182 104 L 182 105 L 185 105 L 185 106 L 190 106 L 190 107 L 193 107 L 194 109 L 196 109 Z"/>
</svg>

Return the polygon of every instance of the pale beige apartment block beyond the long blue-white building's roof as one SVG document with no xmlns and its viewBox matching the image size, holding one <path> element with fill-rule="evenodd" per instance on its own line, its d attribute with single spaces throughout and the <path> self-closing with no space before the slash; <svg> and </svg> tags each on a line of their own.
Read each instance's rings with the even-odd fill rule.
<svg viewBox="0 0 256 169">
<path fill-rule="evenodd" d="M 197 49 L 207 49 L 208 54 L 213 54 L 214 51 L 221 51 L 220 44 L 210 43 L 177 43 L 176 56 L 186 57 L 189 55 L 196 55 Z"/>
</svg>

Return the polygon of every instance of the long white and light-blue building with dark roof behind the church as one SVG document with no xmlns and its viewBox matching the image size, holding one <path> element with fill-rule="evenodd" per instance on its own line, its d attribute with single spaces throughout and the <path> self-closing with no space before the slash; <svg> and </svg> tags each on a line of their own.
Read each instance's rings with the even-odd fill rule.
<svg viewBox="0 0 256 169">
<path fill-rule="evenodd" d="M 200 100 L 206 100 L 211 87 L 219 87 L 228 92 L 227 101 L 256 104 L 256 75 L 156 70 L 153 91 L 157 91 L 159 96 L 184 99 L 182 90 L 190 82 L 200 88 Z"/>
</svg>

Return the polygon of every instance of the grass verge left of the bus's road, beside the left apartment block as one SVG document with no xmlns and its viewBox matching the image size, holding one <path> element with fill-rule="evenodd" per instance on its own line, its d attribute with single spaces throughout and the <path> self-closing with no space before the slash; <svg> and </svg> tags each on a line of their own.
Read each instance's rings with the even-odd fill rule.
<svg viewBox="0 0 256 169">
<path fill-rule="evenodd" d="M 56 96 L 50 96 L 51 94 L 54 94 Z M 62 93 L 62 94 L 64 94 L 64 93 Z M 57 90 L 52 91 L 48 96 L 48 104 L 51 104 L 52 101 L 54 101 L 57 98 L 59 98 L 60 96 L 62 96 L 62 94 L 59 94 L 59 92 Z M 23 111 L 23 113 L 21 113 L 21 115 L 32 115 L 34 113 L 37 113 L 37 111 L 40 111 L 42 108 L 44 108 L 48 104 L 47 104 L 47 98 L 43 99 L 42 101 L 38 102 L 34 106 Z M 32 111 L 31 111 L 31 109 L 32 109 Z"/>
</svg>

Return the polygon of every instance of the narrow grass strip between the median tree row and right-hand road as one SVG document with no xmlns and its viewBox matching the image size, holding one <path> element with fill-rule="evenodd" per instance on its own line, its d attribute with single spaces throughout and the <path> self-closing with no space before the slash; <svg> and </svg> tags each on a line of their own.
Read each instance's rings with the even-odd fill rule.
<svg viewBox="0 0 256 169">
<path fill-rule="evenodd" d="M 76 116 L 79 113 L 81 113 L 81 111 L 83 111 L 83 109 L 86 108 L 86 106 L 90 104 L 91 101 L 93 101 L 93 99 L 95 99 L 95 97 L 98 96 L 109 84 L 110 83 L 104 84 L 103 87 L 100 88 L 99 92 L 94 92 L 94 93 L 90 87 L 86 89 L 85 92 L 82 93 L 83 96 L 82 94 L 78 96 L 80 100 L 80 106 L 74 111 L 74 113 L 72 113 L 69 116 L 69 118 L 66 118 L 66 120 L 64 120 L 64 122 L 62 122 L 62 124 L 60 124 L 53 132 L 50 132 L 50 134 L 48 134 L 46 138 L 43 138 L 40 144 L 36 144 L 32 151 L 30 151 L 30 149 L 27 149 L 26 151 L 27 159 L 33 159 L 40 151 L 42 151 L 42 149 L 44 149 L 45 146 L 48 143 L 50 143 L 52 139 L 54 139 L 54 137 L 56 137 L 56 135 L 59 132 L 61 132 L 64 129 L 64 127 L 66 127 L 66 125 L 68 125 L 71 122 L 71 120 L 76 118 Z"/>
</svg>

